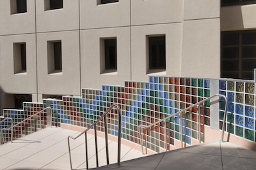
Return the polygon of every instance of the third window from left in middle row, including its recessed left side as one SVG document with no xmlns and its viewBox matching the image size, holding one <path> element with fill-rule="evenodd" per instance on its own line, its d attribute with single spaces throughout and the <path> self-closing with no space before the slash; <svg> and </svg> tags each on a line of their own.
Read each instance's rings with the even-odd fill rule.
<svg viewBox="0 0 256 170">
<path fill-rule="evenodd" d="M 116 38 L 104 38 L 100 40 L 100 68 L 101 73 L 116 72 L 117 49 Z"/>
</svg>

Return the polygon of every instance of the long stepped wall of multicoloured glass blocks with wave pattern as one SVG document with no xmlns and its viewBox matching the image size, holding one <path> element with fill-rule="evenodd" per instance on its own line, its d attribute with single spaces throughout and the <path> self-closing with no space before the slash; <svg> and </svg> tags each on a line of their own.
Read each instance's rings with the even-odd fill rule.
<svg viewBox="0 0 256 170">
<path fill-rule="evenodd" d="M 211 87 L 211 81 L 218 81 L 218 87 Z M 216 89 L 218 89 L 216 91 Z M 253 81 L 231 79 L 207 79 L 184 77 L 150 76 L 148 82 L 125 81 L 124 86 L 102 85 L 102 90 L 82 89 L 82 97 L 64 96 L 62 100 L 44 99 L 40 107 L 33 103 L 24 103 L 24 111 L 13 113 L 4 110 L 4 115 L 32 114 L 51 106 L 54 113 L 53 124 L 77 125 L 88 127 L 100 117 L 111 104 L 116 103 L 122 111 L 122 138 L 140 144 L 139 125 L 149 125 L 173 115 L 178 111 L 202 101 L 210 94 L 219 93 L 228 98 L 228 117 L 226 131 L 255 142 L 255 83 Z M 220 129 L 223 124 L 225 101 L 220 98 L 219 120 Z M 36 110 L 38 109 L 38 110 Z M 26 112 L 27 111 L 27 112 Z M 210 101 L 200 108 L 201 127 L 211 126 Z M 30 112 L 30 113 L 29 113 Z M 216 113 L 215 113 L 216 114 Z M 198 140 L 198 108 L 182 114 L 183 141 L 192 145 Z M 180 140 L 180 117 L 168 120 L 167 143 L 176 145 Z M 98 131 L 104 131 L 104 122 L 99 122 Z M 164 148 L 164 127 L 160 124 L 153 131 L 146 132 L 148 147 L 156 152 Z M 118 116 L 114 109 L 108 115 L 108 133 L 117 136 Z M 201 128 L 204 141 L 204 128 Z M 145 143 L 144 143 L 145 145 Z"/>
</svg>

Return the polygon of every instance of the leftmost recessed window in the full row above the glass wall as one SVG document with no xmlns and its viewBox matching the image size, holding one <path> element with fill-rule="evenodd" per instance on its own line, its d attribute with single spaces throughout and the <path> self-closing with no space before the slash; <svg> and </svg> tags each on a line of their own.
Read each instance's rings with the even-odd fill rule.
<svg viewBox="0 0 256 170">
<path fill-rule="evenodd" d="M 24 73 L 26 64 L 26 43 L 13 43 L 14 73 Z"/>
</svg>

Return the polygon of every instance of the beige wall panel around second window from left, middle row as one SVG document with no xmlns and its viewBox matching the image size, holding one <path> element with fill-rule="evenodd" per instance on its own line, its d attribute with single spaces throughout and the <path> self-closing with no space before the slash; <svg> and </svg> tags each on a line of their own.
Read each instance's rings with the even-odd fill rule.
<svg viewBox="0 0 256 170">
<path fill-rule="evenodd" d="M 79 31 L 37 34 L 38 94 L 79 95 Z M 61 40 L 62 72 L 48 74 L 47 41 Z"/>
</svg>

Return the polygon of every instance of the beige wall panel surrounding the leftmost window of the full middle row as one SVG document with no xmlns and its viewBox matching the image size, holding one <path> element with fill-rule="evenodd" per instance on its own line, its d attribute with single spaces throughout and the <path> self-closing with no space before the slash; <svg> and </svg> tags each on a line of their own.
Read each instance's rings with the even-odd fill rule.
<svg viewBox="0 0 256 170">
<path fill-rule="evenodd" d="M 14 74 L 13 43 L 26 43 L 26 73 Z M 0 38 L 0 88 L 17 94 L 36 93 L 35 34 L 1 36 Z"/>
</svg>

